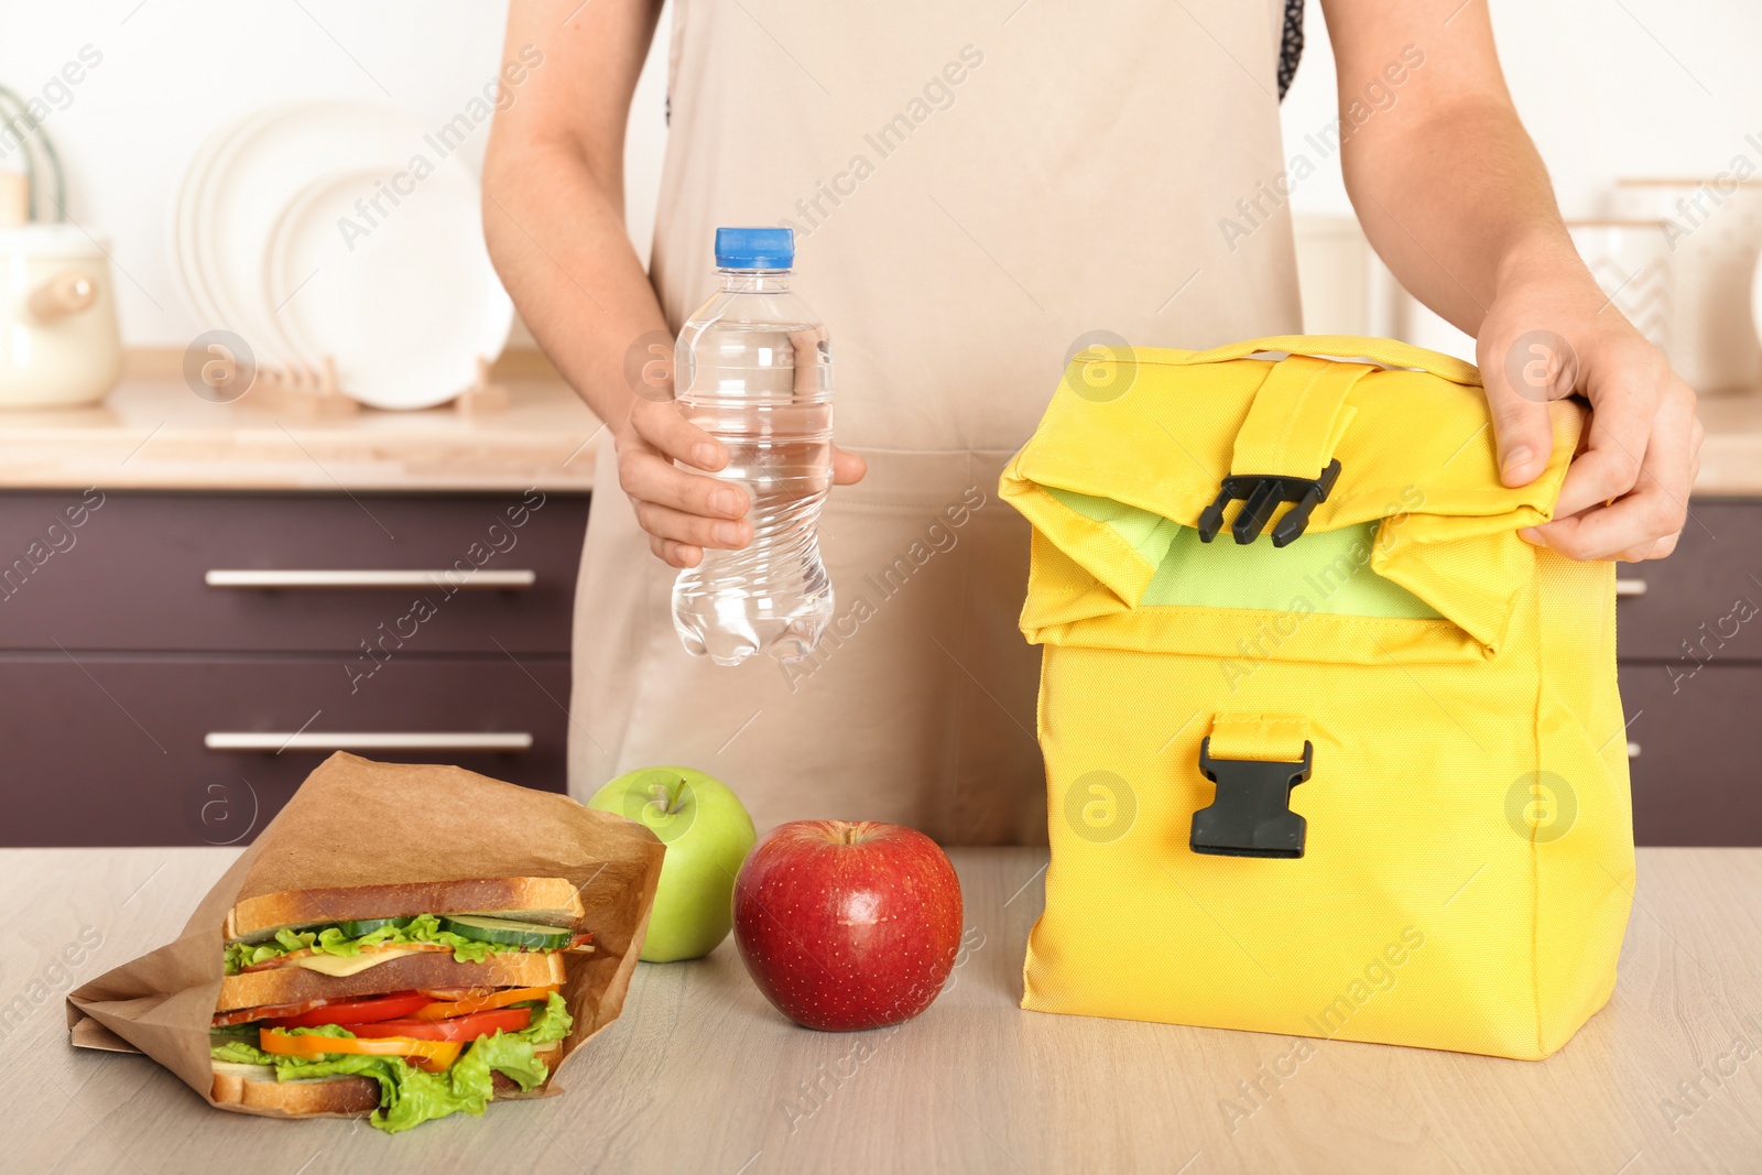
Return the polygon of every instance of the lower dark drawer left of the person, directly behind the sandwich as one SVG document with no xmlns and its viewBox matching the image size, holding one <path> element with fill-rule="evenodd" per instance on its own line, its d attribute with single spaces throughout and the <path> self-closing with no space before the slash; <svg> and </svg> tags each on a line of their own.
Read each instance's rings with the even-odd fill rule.
<svg viewBox="0 0 1762 1175">
<path fill-rule="evenodd" d="M 210 735 L 449 735 L 432 752 L 359 754 L 566 787 L 564 657 L 395 655 L 352 682 L 342 655 L 74 657 L 0 657 L 0 847 L 247 844 L 328 754 L 210 750 Z M 530 749 L 456 745 L 486 735 L 530 735 Z"/>
</svg>

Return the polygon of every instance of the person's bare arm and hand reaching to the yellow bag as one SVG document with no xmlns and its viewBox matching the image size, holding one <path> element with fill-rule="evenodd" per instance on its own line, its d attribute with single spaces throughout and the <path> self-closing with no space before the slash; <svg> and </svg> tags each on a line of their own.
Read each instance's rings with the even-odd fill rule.
<svg viewBox="0 0 1762 1175">
<path fill-rule="evenodd" d="M 1695 395 L 1579 259 L 1505 88 L 1487 5 L 1322 7 L 1353 208 L 1401 284 L 1477 336 L 1505 483 L 1526 484 L 1547 463 L 1545 400 L 1575 382 L 1595 409 L 1556 521 L 1524 537 L 1573 558 L 1669 555 L 1699 469 Z M 1394 100 L 1367 102 L 1373 85 Z"/>
</svg>

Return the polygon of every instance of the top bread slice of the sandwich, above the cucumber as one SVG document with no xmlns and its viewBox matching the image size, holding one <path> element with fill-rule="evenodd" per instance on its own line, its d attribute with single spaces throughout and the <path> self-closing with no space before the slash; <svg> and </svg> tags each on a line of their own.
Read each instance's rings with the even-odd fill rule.
<svg viewBox="0 0 1762 1175">
<path fill-rule="evenodd" d="M 573 927 L 581 895 L 567 877 L 476 877 L 391 886 L 284 890 L 245 898 L 226 916 L 227 942 L 275 937 L 282 927 L 322 927 L 407 914 L 495 914 L 550 927 Z"/>
</svg>

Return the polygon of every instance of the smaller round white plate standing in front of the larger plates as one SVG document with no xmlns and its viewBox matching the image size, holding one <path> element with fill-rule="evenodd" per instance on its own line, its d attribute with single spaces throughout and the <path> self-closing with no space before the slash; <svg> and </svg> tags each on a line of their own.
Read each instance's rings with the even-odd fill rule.
<svg viewBox="0 0 1762 1175">
<path fill-rule="evenodd" d="M 372 201 L 405 174 L 384 217 Z M 347 229 L 345 225 L 352 225 Z M 361 229 L 361 231 L 358 231 Z M 329 356 L 338 388 L 377 409 L 444 403 L 507 344 L 515 305 L 483 243 L 481 192 L 463 167 L 411 181 L 400 167 L 308 183 L 264 248 L 264 294 L 296 354 Z"/>
</svg>

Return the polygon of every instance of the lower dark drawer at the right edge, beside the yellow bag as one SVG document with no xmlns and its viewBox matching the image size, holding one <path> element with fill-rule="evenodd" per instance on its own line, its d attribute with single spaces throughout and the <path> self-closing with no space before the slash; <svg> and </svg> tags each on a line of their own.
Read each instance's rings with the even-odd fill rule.
<svg viewBox="0 0 1762 1175">
<path fill-rule="evenodd" d="M 1762 786 L 1753 733 L 1762 666 L 1707 664 L 1674 676 L 1663 664 L 1623 664 L 1640 844 L 1762 846 Z"/>
</svg>

